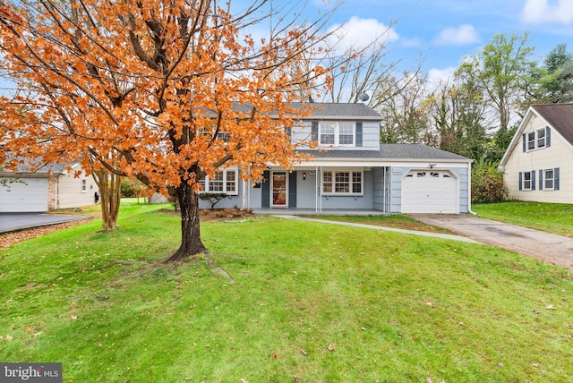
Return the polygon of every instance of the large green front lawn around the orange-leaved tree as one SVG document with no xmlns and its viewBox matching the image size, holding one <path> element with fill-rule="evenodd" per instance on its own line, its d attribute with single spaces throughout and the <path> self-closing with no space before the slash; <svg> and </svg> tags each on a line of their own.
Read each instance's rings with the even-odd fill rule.
<svg viewBox="0 0 573 383">
<path fill-rule="evenodd" d="M 63 362 L 66 382 L 573 376 L 569 270 L 276 217 L 204 223 L 209 258 L 174 268 L 161 260 L 179 222 L 159 208 L 123 206 L 112 234 L 93 221 L 0 252 L 2 362 Z"/>
</svg>

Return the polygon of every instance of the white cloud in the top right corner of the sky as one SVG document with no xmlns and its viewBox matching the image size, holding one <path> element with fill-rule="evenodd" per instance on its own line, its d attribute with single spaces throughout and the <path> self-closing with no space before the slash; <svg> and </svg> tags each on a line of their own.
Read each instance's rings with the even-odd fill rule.
<svg viewBox="0 0 573 383">
<path fill-rule="evenodd" d="M 549 3 L 549 0 L 526 0 L 521 19 L 534 24 L 573 22 L 573 1 L 557 0 L 557 4 Z"/>
</svg>

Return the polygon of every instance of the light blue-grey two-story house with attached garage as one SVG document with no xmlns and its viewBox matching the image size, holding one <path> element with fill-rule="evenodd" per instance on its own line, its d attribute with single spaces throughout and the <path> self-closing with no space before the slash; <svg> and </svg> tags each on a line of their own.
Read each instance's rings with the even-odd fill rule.
<svg viewBox="0 0 573 383">
<path fill-rule="evenodd" d="M 226 192 L 218 208 L 297 209 L 324 212 L 467 213 L 471 159 L 423 144 L 380 142 L 381 115 L 361 103 L 318 103 L 292 129 L 293 141 L 312 137 L 312 159 L 288 171 L 269 164 L 261 183 L 241 181 L 229 167 L 205 191 Z M 323 150 L 320 150 L 323 149 Z M 201 208 L 209 208 L 204 201 Z"/>
</svg>

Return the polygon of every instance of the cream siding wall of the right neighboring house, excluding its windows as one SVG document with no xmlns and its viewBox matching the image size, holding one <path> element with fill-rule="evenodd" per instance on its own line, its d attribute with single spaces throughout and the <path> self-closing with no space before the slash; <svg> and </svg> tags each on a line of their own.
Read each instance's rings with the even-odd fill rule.
<svg viewBox="0 0 573 383">
<path fill-rule="evenodd" d="M 573 149 L 558 132 L 551 130 L 551 146 L 523 152 L 522 134 L 548 126 L 543 118 L 533 117 L 519 132 L 517 145 L 509 153 L 504 169 L 504 182 L 509 198 L 537 202 L 573 203 Z M 539 170 L 560 168 L 560 190 L 539 190 Z M 535 170 L 535 191 L 519 191 L 519 172 Z"/>
</svg>

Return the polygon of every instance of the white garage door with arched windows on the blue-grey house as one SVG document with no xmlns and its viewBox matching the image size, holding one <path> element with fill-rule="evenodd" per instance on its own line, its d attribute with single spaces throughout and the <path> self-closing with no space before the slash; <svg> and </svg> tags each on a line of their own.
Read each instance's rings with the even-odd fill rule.
<svg viewBox="0 0 573 383">
<path fill-rule="evenodd" d="M 402 212 L 458 213 L 457 191 L 448 171 L 411 171 L 402 178 Z"/>
</svg>

